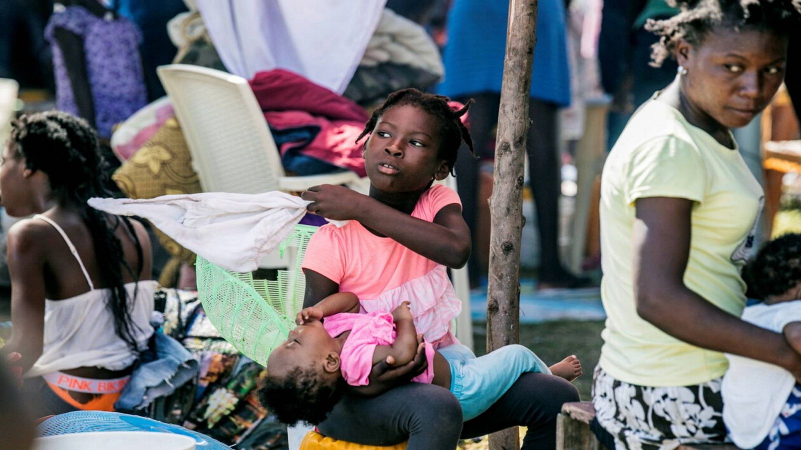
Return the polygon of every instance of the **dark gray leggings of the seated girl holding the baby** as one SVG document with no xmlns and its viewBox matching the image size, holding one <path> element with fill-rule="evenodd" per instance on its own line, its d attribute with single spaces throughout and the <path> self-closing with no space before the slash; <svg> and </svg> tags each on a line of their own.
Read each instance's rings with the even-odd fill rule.
<svg viewBox="0 0 801 450">
<path fill-rule="evenodd" d="M 578 390 L 566 380 L 524 373 L 487 411 L 462 423 L 461 406 L 447 389 L 432 384 L 404 384 L 380 396 L 344 396 L 320 432 L 334 439 L 366 445 L 409 440 L 409 450 L 456 448 L 457 441 L 525 425 L 524 450 L 556 447 L 556 417 Z"/>
</svg>

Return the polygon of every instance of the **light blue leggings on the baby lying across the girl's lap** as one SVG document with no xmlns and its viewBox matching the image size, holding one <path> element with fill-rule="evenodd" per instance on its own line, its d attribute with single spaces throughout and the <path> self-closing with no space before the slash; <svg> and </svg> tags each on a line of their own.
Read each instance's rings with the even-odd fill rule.
<svg viewBox="0 0 801 450">
<path fill-rule="evenodd" d="M 550 373 L 534 352 L 517 344 L 506 345 L 479 358 L 461 344 L 438 351 L 450 364 L 450 391 L 459 400 L 465 421 L 495 404 L 522 373 Z"/>
</svg>

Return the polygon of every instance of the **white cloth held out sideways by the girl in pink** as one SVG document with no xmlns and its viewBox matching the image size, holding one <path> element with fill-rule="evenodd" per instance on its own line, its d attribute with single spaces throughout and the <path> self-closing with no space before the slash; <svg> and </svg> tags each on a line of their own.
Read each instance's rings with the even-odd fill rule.
<svg viewBox="0 0 801 450">
<path fill-rule="evenodd" d="M 300 222 L 309 203 L 280 191 L 89 199 L 100 211 L 148 219 L 188 250 L 238 272 L 255 271 Z"/>
</svg>

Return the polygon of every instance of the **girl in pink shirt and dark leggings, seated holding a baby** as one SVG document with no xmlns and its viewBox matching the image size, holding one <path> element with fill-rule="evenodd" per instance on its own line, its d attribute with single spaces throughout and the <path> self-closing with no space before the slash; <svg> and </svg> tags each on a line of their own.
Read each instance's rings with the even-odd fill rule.
<svg viewBox="0 0 801 450">
<path fill-rule="evenodd" d="M 413 323 L 426 341 L 439 350 L 457 343 L 450 323 L 461 302 L 447 268 L 467 262 L 470 232 L 458 195 L 433 183 L 453 170 L 462 141 L 472 152 L 461 121 L 468 107 L 455 110 L 448 98 L 415 89 L 390 94 L 360 136 L 369 135 L 364 143 L 369 195 L 330 185 L 303 193 L 312 201 L 308 211 L 350 220 L 340 228 L 320 227 L 312 237 L 303 263 L 304 307 L 339 291 L 355 294 L 360 312 L 392 311 L 409 301 Z M 568 381 L 529 372 L 481 416 L 463 424 L 461 406 L 447 389 L 408 383 L 426 366 L 423 345 L 399 368 L 379 362 L 367 386 L 348 388 L 318 424 L 320 432 L 357 444 L 408 440 L 409 448 L 437 449 L 453 448 L 460 436 L 525 425 L 523 448 L 554 448 L 562 403 L 578 400 Z"/>
</svg>

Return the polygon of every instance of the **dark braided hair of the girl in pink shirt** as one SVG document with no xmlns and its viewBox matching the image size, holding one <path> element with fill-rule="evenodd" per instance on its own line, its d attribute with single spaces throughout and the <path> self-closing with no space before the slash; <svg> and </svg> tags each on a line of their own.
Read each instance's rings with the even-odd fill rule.
<svg viewBox="0 0 801 450">
<path fill-rule="evenodd" d="M 465 141 L 470 153 L 475 155 L 473 151 L 473 139 L 470 138 L 470 132 L 465 124 L 461 122 L 461 116 L 465 115 L 473 103 L 471 98 L 462 106 L 460 110 L 453 110 L 448 102 L 450 98 L 444 95 L 427 94 L 420 90 L 409 88 L 397 90 L 389 94 L 384 104 L 372 111 L 372 115 L 367 123 L 364 125 L 364 131 L 356 139 L 359 142 L 365 135 L 372 133 L 384 112 L 392 106 L 412 105 L 417 106 L 425 112 L 432 115 L 439 122 L 440 126 L 440 153 L 439 156 L 445 159 L 448 164 L 449 171 L 453 173 L 453 166 L 456 164 L 456 159 L 459 154 L 459 147 L 461 142 Z"/>
</svg>

